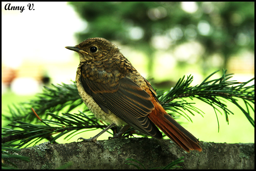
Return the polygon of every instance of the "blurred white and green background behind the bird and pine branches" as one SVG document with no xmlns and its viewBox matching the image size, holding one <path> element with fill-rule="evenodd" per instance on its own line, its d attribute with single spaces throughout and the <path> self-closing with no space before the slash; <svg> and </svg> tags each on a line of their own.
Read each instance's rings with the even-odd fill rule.
<svg viewBox="0 0 256 171">
<path fill-rule="evenodd" d="M 232 80 L 254 77 L 254 2 L 34 2 L 34 10 L 29 3 L 2 2 L 5 114 L 8 105 L 32 99 L 43 85 L 75 80 L 79 59 L 64 47 L 91 37 L 116 44 L 158 90 L 170 89 L 183 75 L 192 74 L 192 85 L 200 84 L 222 68 L 235 74 Z M 8 4 L 25 10 L 6 10 Z M 235 115 L 229 125 L 218 116 L 218 133 L 214 109 L 193 102 L 204 118 L 178 121 L 199 140 L 254 142 L 254 127 L 237 107 L 230 104 Z M 2 119 L 2 126 L 7 123 Z"/>
</svg>

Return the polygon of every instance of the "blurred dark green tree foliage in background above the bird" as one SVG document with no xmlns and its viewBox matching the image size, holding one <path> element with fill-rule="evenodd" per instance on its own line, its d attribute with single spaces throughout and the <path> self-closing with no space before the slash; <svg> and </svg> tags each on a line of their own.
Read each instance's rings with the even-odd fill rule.
<svg viewBox="0 0 256 171">
<path fill-rule="evenodd" d="M 153 52 L 167 50 L 191 41 L 204 47 L 204 74 L 210 68 L 207 58 L 223 57 L 223 68 L 233 54 L 254 51 L 254 2 L 70 2 L 88 22 L 79 42 L 103 37 L 129 44 L 149 58 L 152 72 Z M 156 36 L 163 45 L 155 46 Z M 161 41 L 161 40 L 160 40 Z M 184 63 L 184 61 L 183 61 Z M 188 64 L 189 65 L 189 64 Z"/>
</svg>

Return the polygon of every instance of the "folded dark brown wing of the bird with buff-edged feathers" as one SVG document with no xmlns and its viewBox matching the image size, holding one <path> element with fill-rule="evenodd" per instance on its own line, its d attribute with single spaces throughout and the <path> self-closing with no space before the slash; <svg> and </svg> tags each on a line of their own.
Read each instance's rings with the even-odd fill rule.
<svg viewBox="0 0 256 171">
<path fill-rule="evenodd" d="M 155 109 L 152 97 L 134 81 L 126 77 L 117 78 L 113 74 L 95 80 L 96 75 L 86 74 L 82 69 L 81 81 L 84 90 L 93 97 L 103 111 L 109 109 L 138 131 L 162 138 L 162 133 L 147 115 Z M 94 79 L 93 79 L 94 78 Z"/>
</svg>

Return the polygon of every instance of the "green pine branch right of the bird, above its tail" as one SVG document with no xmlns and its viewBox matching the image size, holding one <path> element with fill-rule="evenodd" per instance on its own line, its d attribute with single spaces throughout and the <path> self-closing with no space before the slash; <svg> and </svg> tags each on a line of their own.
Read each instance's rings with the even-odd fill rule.
<svg viewBox="0 0 256 171">
<path fill-rule="evenodd" d="M 225 99 L 234 103 L 244 113 L 248 121 L 254 127 L 254 120 L 250 116 L 250 109 L 252 109 L 254 113 L 254 85 L 245 87 L 245 85 L 253 81 L 254 78 L 243 83 L 228 81 L 228 79 L 232 77 L 230 76 L 232 74 L 226 74 L 227 70 L 223 70 L 221 78 L 207 81 L 216 72 L 218 71 L 210 74 L 200 85 L 193 87 L 189 86 L 192 83 L 193 77 L 189 75 L 185 80 L 185 76 L 183 76 L 183 78 L 180 79 L 171 90 L 158 96 L 158 99 L 165 109 L 180 113 L 181 115 L 185 113 L 181 110 L 184 109 L 194 115 L 194 112 L 201 114 L 202 111 L 193 106 L 194 103 L 188 103 L 184 98 L 197 98 L 209 104 L 214 109 L 215 113 L 218 111 L 222 114 L 222 110 L 226 116 L 226 121 L 229 122 L 228 115 L 234 115 L 234 113 L 227 108 L 224 101 Z M 243 109 L 241 104 L 237 103 L 238 99 L 243 100 L 246 105 L 246 109 Z M 253 104 L 253 106 L 251 104 Z M 188 115 L 186 116 L 189 118 Z"/>
</svg>

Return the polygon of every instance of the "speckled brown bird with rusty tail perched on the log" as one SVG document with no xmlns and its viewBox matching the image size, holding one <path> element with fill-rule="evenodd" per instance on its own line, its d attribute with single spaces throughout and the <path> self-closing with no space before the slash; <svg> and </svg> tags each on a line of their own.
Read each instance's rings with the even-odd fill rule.
<svg viewBox="0 0 256 171">
<path fill-rule="evenodd" d="M 202 151 L 198 139 L 167 114 L 149 81 L 115 44 L 105 38 L 88 38 L 65 48 L 79 55 L 76 86 L 82 101 L 97 119 L 110 124 L 94 137 L 80 139 L 100 146 L 97 138 L 102 133 L 128 124 L 155 139 L 162 139 L 160 129 L 185 151 Z"/>
</svg>

